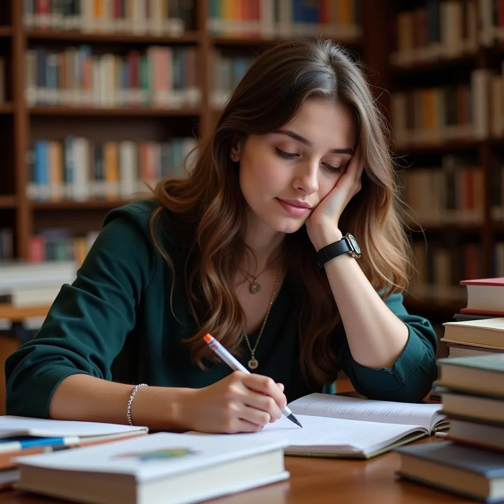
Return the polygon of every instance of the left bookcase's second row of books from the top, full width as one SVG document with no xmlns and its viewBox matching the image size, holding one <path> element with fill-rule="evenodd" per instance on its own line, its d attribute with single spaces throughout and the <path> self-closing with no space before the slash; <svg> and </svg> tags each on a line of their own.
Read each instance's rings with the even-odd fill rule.
<svg viewBox="0 0 504 504">
<path fill-rule="evenodd" d="M 125 55 L 90 45 L 26 51 L 26 101 L 35 104 L 192 107 L 201 102 L 197 48 L 150 46 Z"/>
</svg>

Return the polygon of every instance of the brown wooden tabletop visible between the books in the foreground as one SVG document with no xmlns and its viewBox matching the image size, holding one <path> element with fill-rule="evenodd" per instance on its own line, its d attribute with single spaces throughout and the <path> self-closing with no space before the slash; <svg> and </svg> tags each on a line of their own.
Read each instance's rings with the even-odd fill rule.
<svg viewBox="0 0 504 504">
<path fill-rule="evenodd" d="M 418 443 L 433 443 L 429 437 Z M 429 504 L 474 503 L 450 493 L 398 479 L 399 455 L 387 453 L 366 461 L 286 457 L 290 479 L 247 492 L 208 501 L 208 504 Z M 0 492 L 0 504 L 62 502 L 18 491 Z"/>
</svg>

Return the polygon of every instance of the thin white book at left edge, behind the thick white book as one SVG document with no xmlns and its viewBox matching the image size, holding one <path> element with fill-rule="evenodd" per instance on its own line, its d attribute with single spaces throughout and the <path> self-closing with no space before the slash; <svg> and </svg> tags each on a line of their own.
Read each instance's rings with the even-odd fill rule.
<svg viewBox="0 0 504 504">
<path fill-rule="evenodd" d="M 0 416 L 0 439 L 20 436 L 78 437 L 81 440 L 131 436 L 146 433 L 149 429 L 140 425 L 122 425 L 101 422 L 52 420 L 24 416 Z"/>
</svg>

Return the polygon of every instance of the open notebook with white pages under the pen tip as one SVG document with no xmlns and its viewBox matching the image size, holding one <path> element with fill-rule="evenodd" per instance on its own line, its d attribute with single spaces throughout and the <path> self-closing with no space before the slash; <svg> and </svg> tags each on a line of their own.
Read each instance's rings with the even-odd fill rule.
<svg viewBox="0 0 504 504">
<path fill-rule="evenodd" d="M 303 428 L 282 417 L 260 432 L 237 435 L 286 439 L 286 455 L 367 459 L 448 425 L 441 404 L 310 394 L 289 408 Z"/>
</svg>

